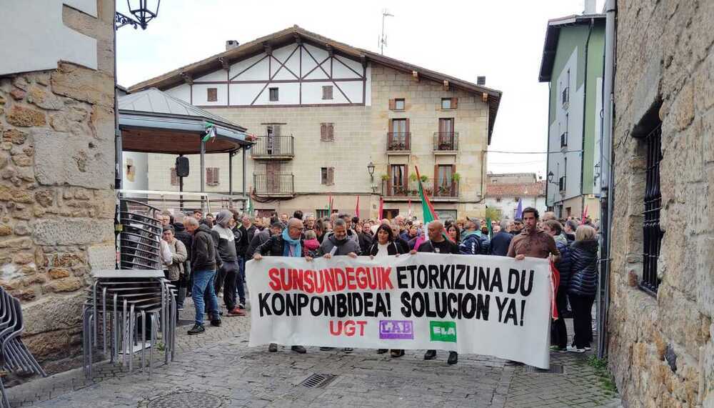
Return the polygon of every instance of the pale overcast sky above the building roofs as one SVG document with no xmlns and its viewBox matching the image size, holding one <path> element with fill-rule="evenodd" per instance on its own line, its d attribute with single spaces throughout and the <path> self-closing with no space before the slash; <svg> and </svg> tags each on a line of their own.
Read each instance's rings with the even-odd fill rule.
<svg viewBox="0 0 714 408">
<path fill-rule="evenodd" d="M 126 7 L 117 1 L 117 11 L 128 14 Z M 164 0 L 146 31 L 118 31 L 117 80 L 131 86 L 225 51 L 226 40 L 243 44 L 295 24 L 378 51 L 386 9 L 393 14 L 386 56 L 474 83 L 486 76 L 486 86 L 503 91 L 489 151 L 545 151 L 548 84 L 538 82 L 545 28 L 583 7 L 583 0 Z M 545 178 L 545 154 L 490 153 L 488 171 Z"/>
</svg>

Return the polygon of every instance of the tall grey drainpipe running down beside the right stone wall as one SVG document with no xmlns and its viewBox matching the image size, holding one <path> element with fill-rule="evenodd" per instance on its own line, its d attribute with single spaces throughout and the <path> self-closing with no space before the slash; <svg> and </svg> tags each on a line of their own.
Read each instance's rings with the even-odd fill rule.
<svg viewBox="0 0 714 408">
<path fill-rule="evenodd" d="M 598 319 L 598 358 L 608 355 L 608 310 L 610 304 L 610 241 L 615 201 L 613 126 L 615 121 L 615 24 L 617 0 L 605 2 L 605 72 L 603 80 L 603 126 L 600 126 L 600 290 L 598 304 L 603 307 Z M 601 299 L 601 297 L 605 299 Z"/>
</svg>

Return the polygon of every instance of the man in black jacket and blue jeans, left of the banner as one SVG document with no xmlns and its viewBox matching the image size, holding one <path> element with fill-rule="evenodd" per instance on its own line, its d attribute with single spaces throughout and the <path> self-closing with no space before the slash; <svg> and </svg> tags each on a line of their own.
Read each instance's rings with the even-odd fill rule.
<svg viewBox="0 0 714 408">
<path fill-rule="evenodd" d="M 203 295 L 208 294 L 208 315 L 211 325 L 220 326 L 221 317 L 218 316 L 218 298 L 213 291 L 213 279 L 216 277 L 216 244 L 211 237 L 211 229 L 207 225 L 198 225 L 195 218 L 188 217 L 183 220 L 183 226 L 189 234 L 193 234 L 191 247 L 191 270 L 193 271 L 193 305 L 196 307 L 196 324 L 188 334 L 201 334 L 206 331 L 203 327 Z"/>
</svg>

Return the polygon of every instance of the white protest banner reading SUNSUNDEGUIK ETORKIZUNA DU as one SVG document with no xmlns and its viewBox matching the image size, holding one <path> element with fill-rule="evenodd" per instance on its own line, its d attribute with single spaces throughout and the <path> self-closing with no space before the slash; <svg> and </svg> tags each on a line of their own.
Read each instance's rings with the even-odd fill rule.
<svg viewBox="0 0 714 408">
<path fill-rule="evenodd" d="M 441 349 L 548 368 L 547 259 L 263 257 L 246 278 L 251 346 Z"/>
</svg>

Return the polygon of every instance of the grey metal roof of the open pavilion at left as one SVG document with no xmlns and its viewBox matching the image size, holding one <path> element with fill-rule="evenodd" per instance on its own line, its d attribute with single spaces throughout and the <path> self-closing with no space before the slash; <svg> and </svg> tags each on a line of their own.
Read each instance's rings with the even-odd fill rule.
<svg viewBox="0 0 714 408">
<path fill-rule="evenodd" d="M 227 153 L 252 145 L 243 126 L 159 89 L 119 96 L 119 129 L 124 151 L 201 154 L 207 123 L 215 126 L 216 137 L 205 143 L 206 153 Z"/>
</svg>

